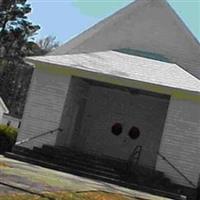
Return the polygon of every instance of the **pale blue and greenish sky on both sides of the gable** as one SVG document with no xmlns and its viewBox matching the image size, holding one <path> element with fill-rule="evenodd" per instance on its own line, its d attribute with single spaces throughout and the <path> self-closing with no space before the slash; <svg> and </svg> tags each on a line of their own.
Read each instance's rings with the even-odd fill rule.
<svg viewBox="0 0 200 200">
<path fill-rule="evenodd" d="M 30 20 L 40 25 L 36 39 L 52 35 L 61 44 L 134 0 L 28 0 Z M 168 0 L 200 41 L 200 0 Z"/>
</svg>

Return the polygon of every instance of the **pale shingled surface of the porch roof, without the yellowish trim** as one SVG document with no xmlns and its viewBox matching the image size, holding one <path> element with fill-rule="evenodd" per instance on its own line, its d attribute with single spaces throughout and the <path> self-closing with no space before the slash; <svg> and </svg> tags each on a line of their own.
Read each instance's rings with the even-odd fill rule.
<svg viewBox="0 0 200 200">
<path fill-rule="evenodd" d="M 73 69 L 78 72 L 88 72 L 91 78 L 92 74 L 94 75 L 95 73 L 169 88 L 200 92 L 200 80 L 176 64 L 115 51 L 29 57 L 28 60 L 38 66 L 40 63 L 46 63 L 55 67 L 64 67 L 69 71 Z"/>
</svg>

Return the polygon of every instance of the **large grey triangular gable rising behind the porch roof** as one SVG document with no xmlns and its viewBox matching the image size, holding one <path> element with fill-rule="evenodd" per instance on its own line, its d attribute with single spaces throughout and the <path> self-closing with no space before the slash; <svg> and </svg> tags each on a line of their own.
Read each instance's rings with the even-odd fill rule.
<svg viewBox="0 0 200 200">
<path fill-rule="evenodd" d="M 162 54 L 200 78 L 200 45 L 166 0 L 136 0 L 49 55 L 126 48 Z"/>
</svg>

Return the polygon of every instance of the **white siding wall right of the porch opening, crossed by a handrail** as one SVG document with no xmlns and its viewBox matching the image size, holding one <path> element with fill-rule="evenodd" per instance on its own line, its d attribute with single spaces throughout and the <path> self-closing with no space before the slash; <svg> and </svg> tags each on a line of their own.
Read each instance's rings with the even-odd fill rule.
<svg viewBox="0 0 200 200">
<path fill-rule="evenodd" d="M 200 174 L 200 104 L 171 98 L 160 152 L 197 185 Z M 161 158 L 157 170 L 174 182 L 190 186 Z"/>
</svg>

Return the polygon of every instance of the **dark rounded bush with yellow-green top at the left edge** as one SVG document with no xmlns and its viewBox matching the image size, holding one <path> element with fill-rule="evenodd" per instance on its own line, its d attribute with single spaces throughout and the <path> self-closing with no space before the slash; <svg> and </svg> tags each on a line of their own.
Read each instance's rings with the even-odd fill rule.
<svg viewBox="0 0 200 200">
<path fill-rule="evenodd" d="M 17 138 L 17 129 L 0 125 L 0 153 L 10 151 Z"/>
</svg>

